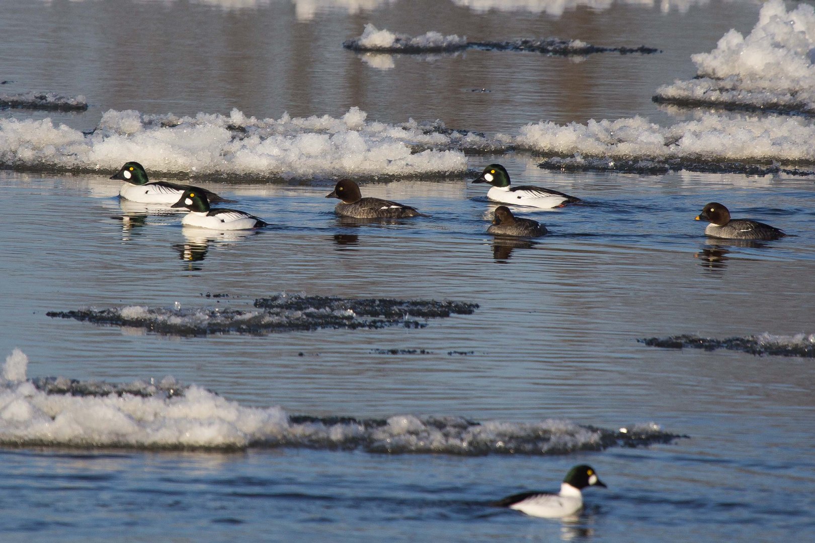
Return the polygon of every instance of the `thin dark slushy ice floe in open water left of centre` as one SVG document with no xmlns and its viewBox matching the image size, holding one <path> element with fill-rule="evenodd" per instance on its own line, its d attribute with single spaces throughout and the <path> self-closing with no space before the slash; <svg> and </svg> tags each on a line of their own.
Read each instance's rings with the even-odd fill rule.
<svg viewBox="0 0 815 543">
<path fill-rule="evenodd" d="M 255 300 L 258 310 L 228 307 L 170 309 L 129 305 L 109 309 L 50 311 L 48 317 L 73 318 L 108 326 L 143 328 L 162 335 L 264 335 L 322 328 L 423 328 L 428 318 L 469 315 L 478 304 L 436 300 L 351 299 L 334 296 L 275 295 Z"/>
</svg>

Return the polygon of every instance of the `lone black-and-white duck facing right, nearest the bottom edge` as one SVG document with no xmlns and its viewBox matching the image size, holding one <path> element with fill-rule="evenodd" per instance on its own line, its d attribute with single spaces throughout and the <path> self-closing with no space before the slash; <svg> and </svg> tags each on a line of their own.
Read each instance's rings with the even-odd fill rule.
<svg viewBox="0 0 815 543">
<path fill-rule="evenodd" d="M 580 490 L 588 486 L 606 488 L 606 484 L 597 478 L 597 472 L 591 466 L 581 464 L 571 468 L 566 474 L 566 478 L 561 483 L 560 493 L 513 494 L 513 496 L 496 501 L 493 505 L 509 507 L 509 509 L 518 510 L 533 517 L 547 519 L 567 517 L 575 515 L 583 508 L 583 493 Z"/>
</svg>

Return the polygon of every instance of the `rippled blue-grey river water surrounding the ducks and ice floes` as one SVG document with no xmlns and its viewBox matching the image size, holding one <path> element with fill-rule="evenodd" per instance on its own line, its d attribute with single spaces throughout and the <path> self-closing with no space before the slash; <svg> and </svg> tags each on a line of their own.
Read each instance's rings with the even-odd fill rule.
<svg viewBox="0 0 815 543">
<path fill-rule="evenodd" d="M 692 77 L 689 56 L 711 50 L 729 28 L 749 31 L 760 7 L 578 2 L 559 14 L 535 2 L 490 11 L 465 3 L 4 2 L 0 80 L 13 82 L 3 90 L 84 94 L 90 107 L 0 114 L 83 130 L 110 108 L 195 115 L 237 107 L 278 118 L 341 116 L 358 106 L 368 120 L 440 119 L 489 133 L 541 119 L 642 115 L 667 124 L 689 113 L 652 103 L 654 89 Z M 575 61 L 469 50 L 398 55 L 383 70 L 340 46 L 368 22 L 411 35 L 557 36 L 663 53 Z M 210 180 L 202 184 L 274 227 L 202 237 L 182 229 L 178 214 L 123 222 L 128 210 L 118 182 L 108 180 L 114 172 L 2 170 L 0 353 L 20 348 L 29 378 L 127 383 L 171 375 L 289 414 L 551 418 L 611 429 L 656 423 L 687 437 L 635 449 L 486 456 L 5 447 L 0 541 L 815 536 L 812 359 L 637 343 L 813 334 L 813 177 L 551 172 L 520 152 L 468 160 L 472 169 L 491 161 L 587 204 L 536 213 L 551 234 L 507 247 L 485 234 L 491 204 L 466 177 L 364 184 L 431 216 L 387 225 L 339 221 L 324 199 L 330 180 Z M 795 237 L 756 247 L 712 242 L 693 218 L 714 200 Z M 421 329 L 195 338 L 45 314 L 203 307 L 214 304 L 208 293 L 240 305 L 281 291 L 480 307 Z M 526 489 L 554 490 L 583 462 L 609 488 L 586 492 L 578 520 L 488 506 Z"/>
</svg>

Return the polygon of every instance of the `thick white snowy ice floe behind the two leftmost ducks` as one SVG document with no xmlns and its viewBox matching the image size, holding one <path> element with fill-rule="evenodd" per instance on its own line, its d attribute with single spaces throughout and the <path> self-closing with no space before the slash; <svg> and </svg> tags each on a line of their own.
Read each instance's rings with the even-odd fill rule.
<svg viewBox="0 0 815 543">
<path fill-rule="evenodd" d="M 0 164 L 16 169 L 116 171 L 122 157 L 151 172 L 198 176 L 315 177 L 463 173 L 456 147 L 487 145 L 481 135 L 440 123 L 366 121 L 343 116 L 279 120 L 228 116 L 147 115 L 110 110 L 91 134 L 51 119 L 0 119 Z"/>
</svg>

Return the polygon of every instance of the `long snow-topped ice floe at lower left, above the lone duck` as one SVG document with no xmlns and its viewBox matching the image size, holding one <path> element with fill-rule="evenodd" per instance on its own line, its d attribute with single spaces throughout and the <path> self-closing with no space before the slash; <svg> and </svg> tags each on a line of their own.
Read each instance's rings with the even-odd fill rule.
<svg viewBox="0 0 815 543">
<path fill-rule="evenodd" d="M 245 407 L 196 385 L 111 384 L 25 377 L 15 349 L 0 376 L 0 444 L 129 449 L 306 447 L 372 453 L 563 454 L 667 443 L 654 423 L 617 430 L 567 420 L 485 421 L 412 414 L 385 419 L 312 417 Z"/>
</svg>

